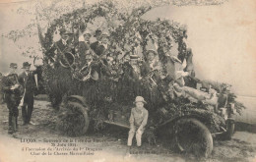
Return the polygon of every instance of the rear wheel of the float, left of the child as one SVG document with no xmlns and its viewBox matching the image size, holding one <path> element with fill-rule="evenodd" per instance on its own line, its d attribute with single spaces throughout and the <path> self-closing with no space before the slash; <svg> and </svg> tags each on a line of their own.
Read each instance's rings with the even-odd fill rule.
<svg viewBox="0 0 256 162">
<path fill-rule="evenodd" d="M 66 135 L 85 135 L 90 126 L 88 110 L 81 96 L 70 96 L 63 106 L 59 128 Z"/>
</svg>

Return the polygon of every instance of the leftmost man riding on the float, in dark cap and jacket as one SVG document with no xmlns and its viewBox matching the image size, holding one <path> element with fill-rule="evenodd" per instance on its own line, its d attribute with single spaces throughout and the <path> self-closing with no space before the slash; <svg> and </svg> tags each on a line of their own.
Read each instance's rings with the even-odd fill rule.
<svg viewBox="0 0 256 162">
<path fill-rule="evenodd" d="M 61 28 L 59 33 L 61 38 L 56 41 L 48 51 L 45 52 L 45 55 L 48 56 L 52 63 L 60 59 L 62 56 L 61 52 L 75 53 L 75 49 L 72 47 L 70 39 L 72 32 L 67 31 L 65 28 Z"/>
</svg>

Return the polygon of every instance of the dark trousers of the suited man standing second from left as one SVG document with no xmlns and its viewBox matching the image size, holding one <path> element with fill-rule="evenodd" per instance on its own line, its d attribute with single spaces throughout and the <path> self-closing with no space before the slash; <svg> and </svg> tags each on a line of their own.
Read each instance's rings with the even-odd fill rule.
<svg viewBox="0 0 256 162">
<path fill-rule="evenodd" d="M 24 103 L 22 106 L 22 116 L 25 124 L 29 124 L 32 119 L 33 109 L 33 93 L 25 94 Z"/>
</svg>

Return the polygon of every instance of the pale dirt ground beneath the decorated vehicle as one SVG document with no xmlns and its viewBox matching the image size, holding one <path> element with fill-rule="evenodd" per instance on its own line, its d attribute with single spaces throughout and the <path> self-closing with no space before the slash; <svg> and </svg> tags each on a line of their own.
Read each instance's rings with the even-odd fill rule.
<svg viewBox="0 0 256 162">
<path fill-rule="evenodd" d="M 256 162 L 256 135 L 247 132 L 236 132 L 231 140 L 214 140 L 214 150 L 209 158 L 197 159 L 192 155 L 178 154 L 157 139 L 157 145 L 149 145 L 144 142 L 141 148 L 126 146 L 127 130 L 116 127 L 107 127 L 100 133 L 70 137 L 63 135 L 56 128 L 57 112 L 53 110 L 50 103 L 45 100 L 35 100 L 32 112 L 32 122 L 36 126 L 22 126 L 21 110 L 19 116 L 19 132 L 17 136 L 8 135 L 8 109 L 5 104 L 0 109 L 0 162 L 57 162 L 57 161 L 255 161 Z M 24 138 L 34 138 L 36 142 L 22 142 Z M 95 140 L 96 142 L 82 142 L 79 146 L 97 148 L 95 155 L 32 155 L 30 152 L 22 151 L 24 147 L 48 147 L 50 143 L 43 142 L 44 139 L 81 139 Z M 171 145 L 171 143 L 169 143 Z M 146 153 L 147 152 L 147 153 Z M 76 159 L 76 160 L 74 160 Z"/>
</svg>

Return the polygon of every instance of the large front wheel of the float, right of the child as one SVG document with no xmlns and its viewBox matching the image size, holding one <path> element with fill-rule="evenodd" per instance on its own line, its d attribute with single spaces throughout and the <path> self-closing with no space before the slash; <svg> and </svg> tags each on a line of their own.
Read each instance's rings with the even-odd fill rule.
<svg viewBox="0 0 256 162">
<path fill-rule="evenodd" d="M 179 151 L 208 157 L 213 150 L 213 137 L 208 128 L 194 118 L 180 119 L 174 126 L 175 144 Z"/>
</svg>

